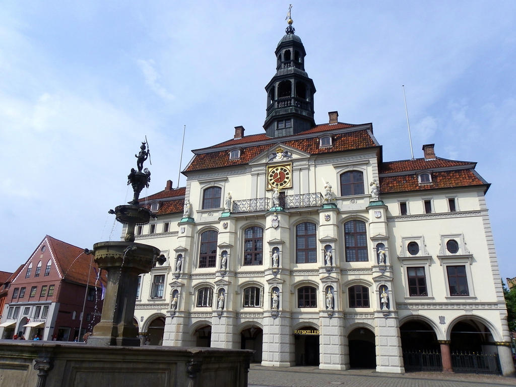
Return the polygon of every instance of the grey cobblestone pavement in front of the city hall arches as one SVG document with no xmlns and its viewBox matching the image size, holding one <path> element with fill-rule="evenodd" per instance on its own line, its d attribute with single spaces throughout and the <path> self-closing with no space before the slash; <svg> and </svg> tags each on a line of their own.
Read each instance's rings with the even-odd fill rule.
<svg viewBox="0 0 516 387">
<path fill-rule="evenodd" d="M 250 387 L 480 387 L 516 385 L 515 377 L 415 372 L 386 374 L 372 369 L 347 371 L 317 367 L 273 368 L 252 364 Z"/>
</svg>

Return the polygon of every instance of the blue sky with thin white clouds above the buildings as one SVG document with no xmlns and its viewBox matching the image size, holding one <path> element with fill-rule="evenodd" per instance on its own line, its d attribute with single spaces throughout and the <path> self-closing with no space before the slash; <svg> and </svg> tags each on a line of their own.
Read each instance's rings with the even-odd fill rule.
<svg viewBox="0 0 516 387">
<path fill-rule="evenodd" d="M 89 248 L 117 240 L 107 211 L 132 197 L 126 176 L 144 135 L 153 165 L 142 195 L 176 186 L 183 125 L 183 167 L 190 149 L 232 138 L 234 126 L 262 133 L 287 8 L 2 2 L 0 270 L 23 263 L 45 234 Z M 338 110 L 341 122 L 373 122 L 384 160 L 410 158 L 405 85 L 415 157 L 435 143 L 440 157 L 478 162 L 492 183 L 501 275 L 516 276 L 516 3 L 301 1 L 292 16 L 315 121 Z"/>
</svg>

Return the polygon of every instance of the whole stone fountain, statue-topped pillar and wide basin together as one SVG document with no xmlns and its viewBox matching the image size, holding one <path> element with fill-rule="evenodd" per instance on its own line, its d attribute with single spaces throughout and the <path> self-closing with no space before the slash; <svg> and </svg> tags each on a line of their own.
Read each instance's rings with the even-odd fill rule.
<svg viewBox="0 0 516 387">
<path fill-rule="evenodd" d="M 152 216 L 138 202 L 151 175 L 147 168 L 143 169 L 149 157 L 146 142 L 135 155 L 138 170 L 132 168 L 127 176 L 127 184 L 134 190 L 133 200 L 109 211 L 126 225 L 124 241 L 99 242 L 93 250 L 86 249 L 108 273 L 102 317 L 93 335 L 86 345 L 0 341 L 2 387 L 247 385 L 250 350 L 139 347 L 138 329 L 133 325 L 138 275 L 150 271 L 156 262 L 165 262 L 159 249 L 134 242 L 136 225 L 148 223 Z"/>
</svg>

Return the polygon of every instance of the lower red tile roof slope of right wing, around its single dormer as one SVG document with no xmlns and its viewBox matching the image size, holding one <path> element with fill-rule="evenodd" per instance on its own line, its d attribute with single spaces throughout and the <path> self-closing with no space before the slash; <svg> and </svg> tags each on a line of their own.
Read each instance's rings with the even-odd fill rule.
<svg viewBox="0 0 516 387">
<path fill-rule="evenodd" d="M 417 191 L 435 188 L 465 187 L 472 185 L 486 185 L 478 178 L 472 169 L 460 169 L 450 171 L 434 171 L 431 184 L 419 184 L 417 174 L 407 175 L 383 175 L 380 176 L 381 192 Z"/>
</svg>

